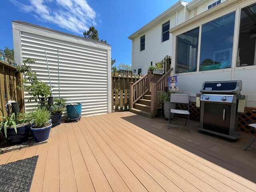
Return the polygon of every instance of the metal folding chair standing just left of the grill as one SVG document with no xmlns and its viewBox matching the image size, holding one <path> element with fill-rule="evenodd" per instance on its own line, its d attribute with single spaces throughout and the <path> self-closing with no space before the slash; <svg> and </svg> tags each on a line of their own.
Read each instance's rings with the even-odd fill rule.
<svg viewBox="0 0 256 192">
<path fill-rule="evenodd" d="M 171 105 L 171 103 L 187 104 L 188 110 L 171 109 L 170 114 L 169 114 L 168 129 L 170 128 L 170 124 L 171 124 L 171 116 L 172 116 L 172 114 L 174 114 L 174 116 L 180 116 L 180 117 L 186 116 L 185 126 L 188 122 L 188 128 L 182 128 L 182 129 L 187 129 L 188 132 L 190 132 L 190 128 L 189 128 L 189 115 L 190 115 L 190 113 L 189 113 L 189 94 L 171 94 L 170 105 Z M 181 123 L 173 123 L 172 122 L 172 124 L 181 124 Z M 184 125 L 184 124 L 182 124 L 182 125 Z M 180 127 L 176 127 L 176 128 L 180 128 Z"/>
</svg>

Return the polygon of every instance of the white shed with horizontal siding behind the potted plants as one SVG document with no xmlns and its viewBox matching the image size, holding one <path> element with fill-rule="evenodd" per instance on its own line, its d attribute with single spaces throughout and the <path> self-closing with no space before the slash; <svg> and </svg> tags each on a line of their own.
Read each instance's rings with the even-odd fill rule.
<svg viewBox="0 0 256 192">
<path fill-rule="evenodd" d="M 14 56 L 17 64 L 28 57 L 38 77 L 50 84 L 45 50 L 50 69 L 53 96 L 58 97 L 58 52 L 60 97 L 81 102 L 82 116 L 111 112 L 111 46 L 96 40 L 67 34 L 22 21 L 12 22 Z M 28 102 L 26 110 L 35 106 Z"/>
</svg>

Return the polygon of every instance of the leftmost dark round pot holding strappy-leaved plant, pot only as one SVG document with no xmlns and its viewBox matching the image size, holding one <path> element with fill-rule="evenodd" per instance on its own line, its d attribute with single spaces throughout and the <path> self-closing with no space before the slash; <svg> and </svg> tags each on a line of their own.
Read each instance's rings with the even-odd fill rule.
<svg viewBox="0 0 256 192">
<path fill-rule="evenodd" d="M 27 125 L 17 125 L 16 128 L 17 128 L 17 134 L 16 134 L 13 126 L 11 126 L 11 128 L 7 127 L 6 140 L 10 143 L 22 143 L 22 142 L 26 141 L 28 139 L 28 133 L 29 133 L 28 126 Z M 5 137 L 4 128 L 1 129 L 1 132 L 2 132 L 3 136 Z"/>
</svg>

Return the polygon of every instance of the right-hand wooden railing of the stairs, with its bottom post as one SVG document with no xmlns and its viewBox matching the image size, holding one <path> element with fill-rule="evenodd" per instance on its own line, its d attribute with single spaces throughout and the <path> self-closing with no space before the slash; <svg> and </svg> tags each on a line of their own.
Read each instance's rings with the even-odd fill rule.
<svg viewBox="0 0 256 192">
<path fill-rule="evenodd" d="M 151 114 L 155 114 L 155 109 L 158 104 L 161 102 L 161 94 L 165 92 L 165 87 L 168 87 L 167 77 L 171 76 L 172 68 L 164 74 L 157 82 L 151 87 Z"/>
</svg>

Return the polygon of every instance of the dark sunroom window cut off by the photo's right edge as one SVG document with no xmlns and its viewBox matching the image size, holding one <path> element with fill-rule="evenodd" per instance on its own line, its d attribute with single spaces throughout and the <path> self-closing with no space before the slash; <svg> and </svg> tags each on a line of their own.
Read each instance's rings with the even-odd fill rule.
<svg viewBox="0 0 256 192">
<path fill-rule="evenodd" d="M 241 9 L 236 66 L 256 65 L 256 3 Z"/>
</svg>

